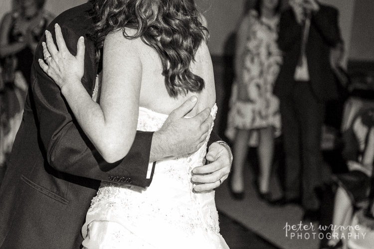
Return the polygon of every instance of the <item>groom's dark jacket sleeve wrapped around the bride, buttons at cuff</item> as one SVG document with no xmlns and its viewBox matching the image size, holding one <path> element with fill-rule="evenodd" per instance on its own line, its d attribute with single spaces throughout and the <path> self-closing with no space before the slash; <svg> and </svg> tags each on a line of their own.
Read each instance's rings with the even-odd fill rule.
<svg viewBox="0 0 374 249">
<path fill-rule="evenodd" d="M 48 29 L 54 36 L 53 25 Z M 76 54 L 78 38 L 85 34 L 64 25 L 61 27 L 66 46 Z M 107 163 L 79 127 L 58 86 L 39 67 L 37 60 L 43 58 L 41 41 L 35 51 L 30 91 L 35 102 L 41 146 L 49 165 L 72 175 L 149 186 L 150 180 L 146 176 L 153 133 L 138 131 L 127 156 L 116 163 Z M 87 39 L 85 43 L 82 84 L 88 93 L 92 93 L 97 69 L 92 56 L 94 45 Z"/>
</svg>

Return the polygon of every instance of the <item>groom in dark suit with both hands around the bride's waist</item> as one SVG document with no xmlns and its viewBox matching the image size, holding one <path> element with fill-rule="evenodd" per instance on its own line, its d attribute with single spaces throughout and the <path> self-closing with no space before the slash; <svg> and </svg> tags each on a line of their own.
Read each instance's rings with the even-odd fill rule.
<svg viewBox="0 0 374 249">
<path fill-rule="evenodd" d="M 95 46 L 86 36 L 92 27 L 91 8 L 85 3 L 69 9 L 48 27 L 54 34 L 54 24 L 61 26 L 73 54 L 78 38 L 85 36 L 82 84 L 90 94 L 97 74 Z M 58 86 L 39 67 L 37 59 L 42 57 L 39 43 L 22 124 L 0 186 L 0 249 L 79 249 L 80 230 L 100 181 L 149 186 L 157 160 L 195 151 L 212 122 L 208 111 L 183 118 L 196 104 L 189 99 L 159 131 L 138 131 L 128 155 L 109 164 L 77 124 Z M 218 187 L 227 178 L 229 153 L 225 145 L 211 143 L 206 156 L 211 163 L 194 169 L 192 180 L 203 183 L 195 191 Z M 150 168 L 149 162 L 154 162 Z"/>
</svg>

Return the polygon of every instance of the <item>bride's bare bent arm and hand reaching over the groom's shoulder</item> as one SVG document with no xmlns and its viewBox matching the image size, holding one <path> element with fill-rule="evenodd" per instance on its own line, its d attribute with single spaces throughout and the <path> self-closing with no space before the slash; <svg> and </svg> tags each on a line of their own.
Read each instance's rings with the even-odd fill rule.
<svg viewBox="0 0 374 249">
<path fill-rule="evenodd" d="M 80 83 L 83 76 L 84 40 L 79 40 L 77 56 L 73 56 L 66 48 L 58 25 L 55 31 L 59 50 L 48 32 L 48 49 L 44 44 L 44 56 L 48 57 L 49 51 L 52 58 L 47 60 L 48 67 L 46 69 L 44 65 L 43 70 L 61 88 L 78 123 L 103 158 L 108 162 L 122 159 L 133 143 L 138 119 L 142 65 L 136 41 L 125 39 L 121 31 L 107 35 L 99 105 Z M 53 70 L 69 73 L 62 76 L 56 73 L 60 77 L 53 77 Z"/>
</svg>

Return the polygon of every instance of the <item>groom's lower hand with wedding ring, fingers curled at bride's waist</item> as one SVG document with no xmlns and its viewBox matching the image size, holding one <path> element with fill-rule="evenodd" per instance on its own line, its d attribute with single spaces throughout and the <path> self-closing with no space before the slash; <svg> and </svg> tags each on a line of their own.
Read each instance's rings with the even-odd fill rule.
<svg viewBox="0 0 374 249">
<path fill-rule="evenodd" d="M 227 179 L 231 170 L 232 154 L 230 147 L 213 142 L 206 154 L 209 164 L 195 167 L 192 181 L 196 184 L 196 192 L 212 190 L 219 187 Z"/>
</svg>

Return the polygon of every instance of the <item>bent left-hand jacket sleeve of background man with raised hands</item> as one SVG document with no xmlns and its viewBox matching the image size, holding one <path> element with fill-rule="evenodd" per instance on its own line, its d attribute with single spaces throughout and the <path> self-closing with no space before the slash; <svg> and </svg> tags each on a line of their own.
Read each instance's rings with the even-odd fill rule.
<svg viewBox="0 0 374 249">
<path fill-rule="evenodd" d="M 290 50 L 301 40 L 302 26 L 297 23 L 291 8 L 285 10 L 279 21 L 278 46 L 282 51 Z"/>
</svg>

